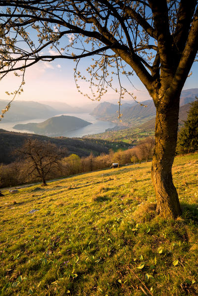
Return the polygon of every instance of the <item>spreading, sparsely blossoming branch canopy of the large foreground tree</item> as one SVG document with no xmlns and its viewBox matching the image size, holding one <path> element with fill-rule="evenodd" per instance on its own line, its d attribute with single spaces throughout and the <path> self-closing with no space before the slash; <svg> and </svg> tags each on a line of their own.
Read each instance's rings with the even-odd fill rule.
<svg viewBox="0 0 198 296">
<path fill-rule="evenodd" d="M 198 51 L 196 0 L 2 0 L 0 6 L 1 78 L 9 71 L 23 76 L 17 70 L 39 61 L 74 59 L 77 88 L 78 78 L 89 80 L 92 98 L 113 87 L 113 76 L 120 83 L 115 91 L 131 94 L 121 74 L 130 80 L 136 73 L 156 104 L 156 89 L 169 74 L 171 88 L 181 91 Z M 78 71 L 88 56 L 90 79 Z"/>
</svg>

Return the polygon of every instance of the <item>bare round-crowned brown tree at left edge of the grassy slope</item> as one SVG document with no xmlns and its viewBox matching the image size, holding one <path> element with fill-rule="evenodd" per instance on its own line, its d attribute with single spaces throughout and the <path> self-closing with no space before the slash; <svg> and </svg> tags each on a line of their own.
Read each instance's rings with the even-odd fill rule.
<svg viewBox="0 0 198 296">
<path fill-rule="evenodd" d="M 64 151 L 50 142 L 42 142 L 37 139 L 28 139 L 21 148 L 13 152 L 26 162 L 30 175 L 40 178 L 43 185 L 49 172 L 61 169 L 60 159 L 64 156 Z"/>
</svg>

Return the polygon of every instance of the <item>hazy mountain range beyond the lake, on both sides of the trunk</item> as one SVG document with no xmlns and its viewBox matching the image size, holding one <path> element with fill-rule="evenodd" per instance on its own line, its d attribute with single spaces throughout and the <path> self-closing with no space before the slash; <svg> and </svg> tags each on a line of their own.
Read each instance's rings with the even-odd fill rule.
<svg viewBox="0 0 198 296">
<path fill-rule="evenodd" d="M 188 104 L 198 96 L 198 88 L 185 89 L 181 93 L 180 106 Z M 9 101 L 0 100 L 0 110 Z M 137 127 L 155 117 L 155 107 L 152 100 L 143 102 L 147 107 L 132 101 L 123 101 L 121 105 L 122 123 L 118 117 L 119 105 L 109 102 L 90 102 L 82 107 L 72 107 L 60 101 L 13 101 L 0 123 L 27 121 L 32 119 L 48 119 L 63 113 L 89 113 L 99 120 L 110 121 L 123 127 Z"/>
</svg>

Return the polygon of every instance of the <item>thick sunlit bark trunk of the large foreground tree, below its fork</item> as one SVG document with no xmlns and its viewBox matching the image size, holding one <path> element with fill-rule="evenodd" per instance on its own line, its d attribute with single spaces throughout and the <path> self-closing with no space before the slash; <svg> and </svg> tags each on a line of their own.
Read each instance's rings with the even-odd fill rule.
<svg viewBox="0 0 198 296">
<path fill-rule="evenodd" d="M 177 144 L 179 97 L 172 100 L 165 98 L 155 106 L 156 144 L 151 176 L 157 200 L 156 211 L 161 216 L 175 218 L 181 214 L 177 190 L 172 180 L 172 165 Z"/>
</svg>

